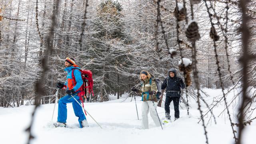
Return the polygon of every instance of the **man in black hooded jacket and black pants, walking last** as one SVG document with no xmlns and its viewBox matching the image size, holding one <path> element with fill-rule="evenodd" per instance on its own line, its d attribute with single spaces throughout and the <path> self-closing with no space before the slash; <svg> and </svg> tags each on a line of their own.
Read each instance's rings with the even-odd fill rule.
<svg viewBox="0 0 256 144">
<path fill-rule="evenodd" d="M 166 99 L 164 104 L 165 109 L 165 117 L 166 119 L 170 120 L 170 103 L 173 101 L 174 105 L 174 117 L 175 120 L 180 118 L 180 111 L 179 111 L 179 101 L 180 101 L 180 88 L 184 89 L 185 84 L 182 78 L 176 76 L 176 70 L 171 68 L 169 70 L 169 76 L 164 80 L 161 89 L 164 90 L 166 88 Z"/>
</svg>

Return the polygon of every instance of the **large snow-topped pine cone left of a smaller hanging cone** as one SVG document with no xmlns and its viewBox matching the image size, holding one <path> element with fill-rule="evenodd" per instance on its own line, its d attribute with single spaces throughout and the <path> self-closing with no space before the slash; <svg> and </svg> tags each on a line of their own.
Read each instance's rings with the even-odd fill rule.
<svg viewBox="0 0 256 144">
<path fill-rule="evenodd" d="M 190 22 L 186 29 L 186 37 L 190 42 L 195 42 L 196 40 L 200 39 L 200 34 L 198 32 L 198 25 L 195 21 Z"/>
</svg>

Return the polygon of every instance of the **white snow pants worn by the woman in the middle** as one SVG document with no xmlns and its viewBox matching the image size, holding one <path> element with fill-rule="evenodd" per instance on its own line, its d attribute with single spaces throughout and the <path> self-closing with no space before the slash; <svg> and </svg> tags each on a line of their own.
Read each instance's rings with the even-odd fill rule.
<svg viewBox="0 0 256 144">
<path fill-rule="evenodd" d="M 153 119 L 156 126 L 160 126 L 160 122 L 156 114 L 156 109 L 155 109 L 156 106 L 157 106 L 157 102 L 154 102 L 154 104 L 150 100 L 146 102 L 142 102 L 142 128 L 143 129 L 148 129 L 148 110 L 150 111 L 150 116 Z"/>
</svg>

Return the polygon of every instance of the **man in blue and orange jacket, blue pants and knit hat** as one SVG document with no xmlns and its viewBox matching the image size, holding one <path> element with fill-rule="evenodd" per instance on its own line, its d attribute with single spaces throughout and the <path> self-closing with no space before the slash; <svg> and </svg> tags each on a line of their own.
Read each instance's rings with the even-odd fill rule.
<svg viewBox="0 0 256 144">
<path fill-rule="evenodd" d="M 80 68 L 76 65 L 74 58 L 66 58 L 64 69 L 67 74 L 66 83 L 58 82 L 57 88 L 66 88 L 67 95 L 60 98 L 58 105 L 58 121 L 54 123 L 56 127 L 66 127 L 67 120 L 67 103 L 72 103 L 74 113 L 78 117 L 78 122 L 80 128 L 88 127 L 88 122 L 82 110 L 82 107 L 76 102 L 76 100 L 81 104 L 80 97 L 78 93 L 80 92 L 80 87 L 83 84 L 82 75 Z M 75 80 L 72 78 L 72 71 L 74 71 Z M 72 96 L 76 99 L 74 99 Z"/>
</svg>

